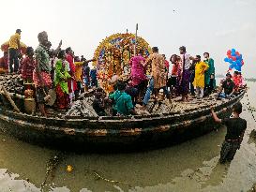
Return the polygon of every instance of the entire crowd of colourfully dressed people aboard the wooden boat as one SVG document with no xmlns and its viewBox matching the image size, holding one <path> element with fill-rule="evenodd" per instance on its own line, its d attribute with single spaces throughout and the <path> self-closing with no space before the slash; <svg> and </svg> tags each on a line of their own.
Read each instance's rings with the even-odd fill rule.
<svg viewBox="0 0 256 192">
<path fill-rule="evenodd" d="M 56 49 L 52 49 L 45 31 L 38 34 L 38 48 L 34 51 L 32 47 L 27 47 L 23 58 L 19 52 L 21 32 L 17 29 L 15 35 L 10 37 L 8 52 L 4 52 L 0 59 L 1 72 L 20 73 L 25 84 L 35 86 L 42 115 L 47 116 L 45 103 L 51 97 L 49 89 L 55 90 L 57 108 L 67 110 L 82 92 L 98 87 L 97 68 L 94 66 L 91 69 L 88 65 L 95 59 L 86 60 L 83 55 L 80 58 L 70 47 L 62 50 L 62 41 Z M 214 60 L 208 52 L 203 53 L 203 60 L 200 55 L 193 57 L 188 54 L 186 47 L 182 46 L 179 55 L 173 54 L 170 58 L 172 70 L 165 54 L 158 52 L 158 47 L 153 47 L 152 54 L 147 58 L 143 56 L 143 51 L 138 51 L 130 59 L 128 80 L 113 77 L 110 83 L 114 91 L 109 96 L 102 89 L 96 89 L 93 107 L 98 115 L 106 115 L 104 111 L 108 104 L 113 106 L 113 115 L 136 114 L 136 104 L 146 110 L 151 98 L 155 101 L 164 99 L 159 92 L 172 103 L 172 98 L 177 96 L 181 96 L 179 101 L 182 102 L 189 102 L 189 96 L 200 101 L 216 89 Z M 146 74 L 149 66 L 150 75 Z M 226 80 L 221 81 L 218 97 L 231 97 L 244 85 L 240 72 L 235 71 L 233 77 L 228 73 Z"/>
</svg>

